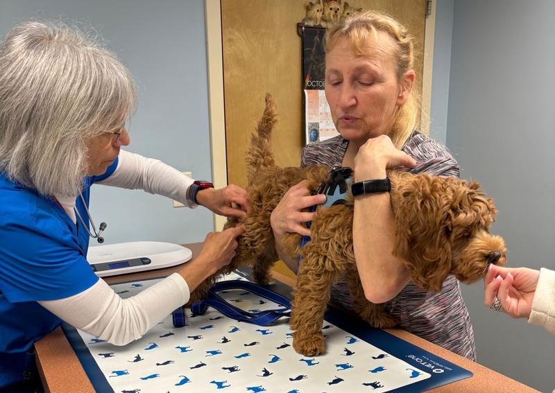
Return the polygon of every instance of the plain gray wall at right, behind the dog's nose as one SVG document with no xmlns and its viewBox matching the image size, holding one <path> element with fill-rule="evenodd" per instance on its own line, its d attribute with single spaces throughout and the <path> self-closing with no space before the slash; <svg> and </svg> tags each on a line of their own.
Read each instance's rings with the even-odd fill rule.
<svg viewBox="0 0 555 393">
<path fill-rule="evenodd" d="M 437 86 L 441 99 L 448 91 L 447 147 L 461 165 L 461 177 L 478 180 L 495 198 L 493 232 L 505 238 L 508 264 L 554 269 L 555 2 L 438 0 L 442 7 L 453 10 L 437 13 L 445 23 L 436 21 L 445 35 L 452 30 L 450 54 L 438 54 L 450 55 L 451 64 L 449 85 Z M 443 122 L 444 115 L 436 119 Z M 478 362 L 551 392 L 555 337 L 490 311 L 481 282 L 463 286 L 463 295 Z"/>
</svg>

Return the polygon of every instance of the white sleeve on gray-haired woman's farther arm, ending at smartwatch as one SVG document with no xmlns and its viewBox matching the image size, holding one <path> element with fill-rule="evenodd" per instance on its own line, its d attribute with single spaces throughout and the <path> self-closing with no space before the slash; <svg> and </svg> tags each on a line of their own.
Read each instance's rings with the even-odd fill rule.
<svg viewBox="0 0 555 393">
<path fill-rule="evenodd" d="M 97 184 L 123 189 L 143 189 L 147 193 L 178 200 L 187 207 L 196 207 L 197 205 L 187 198 L 187 189 L 193 182 L 191 177 L 183 175 L 176 168 L 158 159 L 120 150 L 114 173 Z"/>
</svg>

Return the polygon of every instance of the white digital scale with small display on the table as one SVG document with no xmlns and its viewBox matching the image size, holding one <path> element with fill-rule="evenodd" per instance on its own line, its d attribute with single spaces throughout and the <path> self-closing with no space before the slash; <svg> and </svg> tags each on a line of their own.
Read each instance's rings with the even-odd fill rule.
<svg viewBox="0 0 555 393">
<path fill-rule="evenodd" d="M 87 260 L 99 277 L 169 268 L 192 257 L 187 247 L 158 241 L 94 245 L 87 253 Z"/>
</svg>

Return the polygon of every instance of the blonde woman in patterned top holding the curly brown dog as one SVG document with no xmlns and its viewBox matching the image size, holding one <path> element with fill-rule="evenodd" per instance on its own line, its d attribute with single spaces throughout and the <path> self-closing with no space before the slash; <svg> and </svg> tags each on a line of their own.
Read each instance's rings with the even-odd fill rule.
<svg viewBox="0 0 555 393">
<path fill-rule="evenodd" d="M 354 182 L 383 180 L 386 169 L 397 167 L 459 176 L 450 152 L 418 132 L 413 44 L 402 24 L 380 12 L 361 12 L 327 31 L 325 53 L 325 95 L 340 135 L 308 145 L 302 166 L 349 166 L 355 169 Z M 284 234 L 309 235 L 304 223 L 314 213 L 302 209 L 324 201 L 300 183 L 272 213 L 276 248 L 293 271 L 297 261 L 281 252 Z M 386 303 L 402 329 L 475 360 L 474 333 L 455 277 L 447 277 L 440 292 L 425 292 L 411 283 L 409 272 L 393 256 L 389 193 L 356 196 L 354 214 L 355 259 L 367 299 Z M 331 297 L 352 307 L 343 280 L 332 287 Z"/>
</svg>

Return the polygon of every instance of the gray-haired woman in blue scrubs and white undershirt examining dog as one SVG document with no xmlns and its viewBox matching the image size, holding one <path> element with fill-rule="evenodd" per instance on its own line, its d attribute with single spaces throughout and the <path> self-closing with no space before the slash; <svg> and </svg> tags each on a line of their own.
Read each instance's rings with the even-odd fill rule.
<svg viewBox="0 0 555 393">
<path fill-rule="evenodd" d="M 125 123 L 134 105 L 128 70 L 77 29 L 30 22 L 0 44 L 0 390 L 28 388 L 33 343 L 61 320 L 126 344 L 185 304 L 234 255 L 240 227 L 209 234 L 179 273 L 125 300 L 89 268 L 94 183 L 225 216 L 244 216 L 232 204 L 248 206 L 237 186 L 205 189 L 160 161 L 120 150 L 130 143 Z"/>
</svg>

